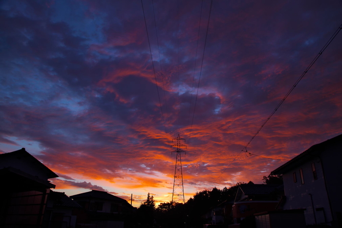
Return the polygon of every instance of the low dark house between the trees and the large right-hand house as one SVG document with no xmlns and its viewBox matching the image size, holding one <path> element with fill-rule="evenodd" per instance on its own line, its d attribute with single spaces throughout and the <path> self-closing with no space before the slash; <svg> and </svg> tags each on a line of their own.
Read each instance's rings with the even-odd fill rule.
<svg viewBox="0 0 342 228">
<path fill-rule="evenodd" d="M 282 185 L 240 185 L 233 205 L 234 223 L 258 212 L 275 210 L 283 194 Z"/>
</svg>

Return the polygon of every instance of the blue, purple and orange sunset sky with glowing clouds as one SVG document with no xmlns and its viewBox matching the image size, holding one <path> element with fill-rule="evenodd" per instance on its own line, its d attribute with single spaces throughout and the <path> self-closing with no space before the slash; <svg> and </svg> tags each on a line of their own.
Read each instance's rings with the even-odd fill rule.
<svg viewBox="0 0 342 228">
<path fill-rule="evenodd" d="M 0 2 L 0 153 L 25 147 L 56 191 L 139 207 L 171 201 L 178 134 L 188 200 L 261 184 L 342 133 L 340 32 L 248 145 L 272 159 L 241 152 L 341 25 L 340 0 L 214 0 L 208 30 L 209 0 L 142 2 Z"/>
</svg>

